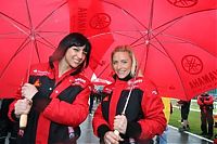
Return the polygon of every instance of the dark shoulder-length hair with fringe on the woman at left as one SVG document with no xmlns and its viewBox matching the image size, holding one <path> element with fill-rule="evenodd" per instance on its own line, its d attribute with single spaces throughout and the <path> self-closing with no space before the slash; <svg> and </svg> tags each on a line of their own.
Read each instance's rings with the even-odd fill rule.
<svg viewBox="0 0 217 144">
<path fill-rule="evenodd" d="M 51 67 L 53 68 L 54 61 L 61 61 L 64 57 L 66 51 L 71 47 L 84 47 L 84 45 L 85 45 L 84 51 L 87 52 L 86 60 L 82 64 L 79 65 L 79 67 L 77 68 L 77 70 L 74 74 L 80 73 L 85 67 L 87 67 L 89 65 L 91 44 L 90 44 L 90 41 L 82 34 L 79 34 L 79 32 L 72 32 L 72 34 L 65 36 L 61 40 L 58 49 L 49 57 L 49 63 L 50 63 Z"/>
</svg>

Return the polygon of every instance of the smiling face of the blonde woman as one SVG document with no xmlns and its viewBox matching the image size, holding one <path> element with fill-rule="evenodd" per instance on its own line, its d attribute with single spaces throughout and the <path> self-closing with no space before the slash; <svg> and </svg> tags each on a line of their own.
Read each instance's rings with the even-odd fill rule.
<svg viewBox="0 0 217 144">
<path fill-rule="evenodd" d="M 112 60 L 113 69 L 118 78 L 125 78 L 129 75 L 132 61 L 128 52 L 116 52 Z"/>
</svg>

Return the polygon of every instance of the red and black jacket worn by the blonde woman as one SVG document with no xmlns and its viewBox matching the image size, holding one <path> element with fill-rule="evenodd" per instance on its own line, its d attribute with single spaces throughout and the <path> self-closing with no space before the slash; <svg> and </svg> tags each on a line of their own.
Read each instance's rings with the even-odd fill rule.
<svg viewBox="0 0 217 144">
<path fill-rule="evenodd" d="M 107 131 L 113 130 L 114 117 L 122 114 L 131 83 L 133 90 L 125 113 L 128 120 L 127 131 L 120 136 L 150 140 L 165 130 L 166 119 L 161 97 L 143 78 L 137 78 L 129 81 L 116 80 L 115 83 L 105 87 L 105 91 L 111 93 L 97 108 L 92 121 L 97 136 L 102 139 Z"/>
</svg>

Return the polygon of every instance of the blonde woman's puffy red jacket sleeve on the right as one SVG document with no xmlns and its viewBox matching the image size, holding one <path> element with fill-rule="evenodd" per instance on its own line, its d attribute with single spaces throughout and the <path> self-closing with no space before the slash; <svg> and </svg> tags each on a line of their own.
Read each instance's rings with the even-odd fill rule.
<svg viewBox="0 0 217 144">
<path fill-rule="evenodd" d="M 156 93 L 146 93 L 146 95 L 143 95 L 141 106 L 144 118 L 138 121 L 141 126 L 139 139 L 152 139 L 157 134 L 162 134 L 167 122 L 161 97 Z"/>
</svg>

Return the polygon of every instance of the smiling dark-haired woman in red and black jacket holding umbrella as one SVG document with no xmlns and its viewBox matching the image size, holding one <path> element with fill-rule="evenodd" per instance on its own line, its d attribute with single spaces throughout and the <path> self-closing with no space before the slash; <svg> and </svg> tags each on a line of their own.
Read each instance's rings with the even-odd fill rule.
<svg viewBox="0 0 217 144">
<path fill-rule="evenodd" d="M 89 64 L 91 44 L 81 34 L 63 38 L 49 63 L 30 67 L 28 83 L 17 92 L 9 117 L 18 121 L 28 115 L 21 144 L 76 143 L 79 125 L 88 116 L 90 82 L 82 75 Z"/>
</svg>

